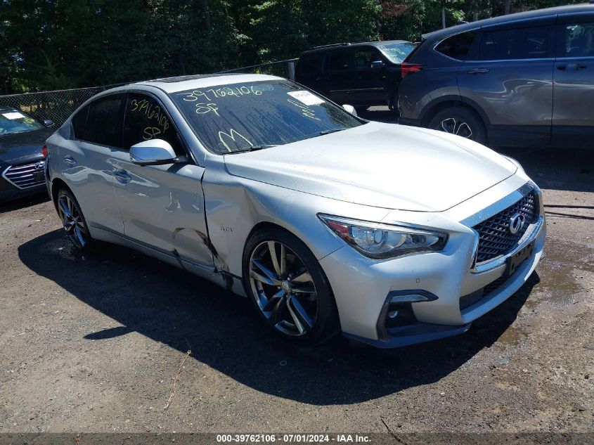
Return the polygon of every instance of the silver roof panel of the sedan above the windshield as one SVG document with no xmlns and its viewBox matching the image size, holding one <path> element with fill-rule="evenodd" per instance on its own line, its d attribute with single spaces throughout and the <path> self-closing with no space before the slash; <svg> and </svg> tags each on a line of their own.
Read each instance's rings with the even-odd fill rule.
<svg viewBox="0 0 594 445">
<path fill-rule="evenodd" d="M 244 82 L 262 82 L 266 80 L 278 79 L 281 79 L 281 77 L 269 75 L 221 73 L 210 75 L 165 77 L 163 79 L 153 79 L 145 80 L 143 82 L 136 82 L 132 85 L 156 86 L 157 88 L 162 89 L 166 93 L 175 93 L 176 91 L 186 91 L 195 88 L 207 88 L 209 86 L 241 84 Z"/>
</svg>

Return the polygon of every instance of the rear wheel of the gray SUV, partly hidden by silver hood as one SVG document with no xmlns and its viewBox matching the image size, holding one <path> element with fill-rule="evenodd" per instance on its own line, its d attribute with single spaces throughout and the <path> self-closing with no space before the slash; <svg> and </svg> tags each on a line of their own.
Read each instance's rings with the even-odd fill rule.
<svg viewBox="0 0 594 445">
<path fill-rule="evenodd" d="M 434 115 L 428 128 L 456 134 L 471 141 L 486 144 L 486 131 L 481 118 L 465 107 L 445 108 Z"/>
</svg>

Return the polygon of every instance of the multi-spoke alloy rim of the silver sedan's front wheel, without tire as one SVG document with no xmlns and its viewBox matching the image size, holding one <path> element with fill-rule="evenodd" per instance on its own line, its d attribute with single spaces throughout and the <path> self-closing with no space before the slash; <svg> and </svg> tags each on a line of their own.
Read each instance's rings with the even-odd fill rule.
<svg viewBox="0 0 594 445">
<path fill-rule="evenodd" d="M 252 294 L 264 317 L 281 333 L 309 333 L 318 315 L 316 285 L 303 260 L 287 245 L 268 240 L 250 257 Z"/>
</svg>

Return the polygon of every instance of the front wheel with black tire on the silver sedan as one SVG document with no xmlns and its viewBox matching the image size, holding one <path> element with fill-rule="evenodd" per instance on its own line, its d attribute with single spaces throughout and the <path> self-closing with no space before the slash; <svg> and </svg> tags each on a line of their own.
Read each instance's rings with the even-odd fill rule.
<svg viewBox="0 0 594 445">
<path fill-rule="evenodd" d="M 338 332 L 328 278 L 299 238 L 271 228 L 257 231 L 243 255 L 245 290 L 275 335 L 313 346 Z"/>
</svg>

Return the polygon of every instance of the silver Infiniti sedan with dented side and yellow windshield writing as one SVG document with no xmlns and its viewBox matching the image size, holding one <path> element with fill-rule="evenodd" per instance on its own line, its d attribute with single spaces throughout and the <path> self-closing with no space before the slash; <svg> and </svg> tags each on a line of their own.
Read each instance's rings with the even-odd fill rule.
<svg viewBox="0 0 594 445">
<path fill-rule="evenodd" d="M 463 333 L 543 252 L 541 191 L 515 160 L 279 77 L 111 89 L 47 146 L 76 247 L 125 245 L 219 283 L 300 344 Z"/>
</svg>

